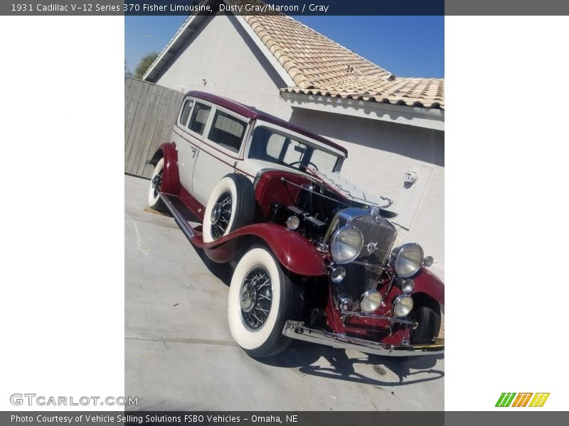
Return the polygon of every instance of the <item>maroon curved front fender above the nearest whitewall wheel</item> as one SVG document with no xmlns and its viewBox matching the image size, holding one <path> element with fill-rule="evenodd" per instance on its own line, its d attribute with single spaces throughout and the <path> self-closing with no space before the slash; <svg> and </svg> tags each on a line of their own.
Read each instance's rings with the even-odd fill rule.
<svg viewBox="0 0 569 426">
<path fill-rule="evenodd" d="M 235 239 L 242 236 L 255 236 L 265 241 L 277 261 L 292 273 L 304 276 L 326 275 L 326 265 L 319 251 L 304 236 L 289 231 L 285 226 L 252 224 L 211 243 L 193 243 L 206 249 L 208 257 L 213 261 L 228 261 L 235 250 Z"/>
</svg>

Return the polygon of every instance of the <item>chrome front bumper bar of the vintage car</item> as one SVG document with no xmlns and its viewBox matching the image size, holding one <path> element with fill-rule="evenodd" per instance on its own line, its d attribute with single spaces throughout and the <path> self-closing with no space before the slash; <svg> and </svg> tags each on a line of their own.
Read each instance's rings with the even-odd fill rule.
<svg viewBox="0 0 569 426">
<path fill-rule="evenodd" d="M 342 336 L 341 334 L 313 329 L 306 327 L 304 322 L 290 320 L 285 324 L 282 334 L 291 339 L 383 356 L 437 355 L 445 351 L 444 341 L 435 344 L 395 346 L 393 344 L 371 342 L 370 340 L 358 339 L 357 337 Z"/>
</svg>

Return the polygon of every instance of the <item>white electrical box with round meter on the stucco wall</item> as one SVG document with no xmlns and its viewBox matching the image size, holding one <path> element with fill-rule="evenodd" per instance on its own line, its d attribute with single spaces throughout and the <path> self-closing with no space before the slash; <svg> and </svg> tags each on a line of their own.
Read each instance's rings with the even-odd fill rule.
<svg viewBox="0 0 569 426">
<path fill-rule="evenodd" d="M 395 202 L 398 216 L 391 219 L 395 224 L 410 229 L 431 173 L 432 167 L 419 163 L 413 163 L 408 170 L 405 170 L 402 176 L 401 192 Z"/>
</svg>

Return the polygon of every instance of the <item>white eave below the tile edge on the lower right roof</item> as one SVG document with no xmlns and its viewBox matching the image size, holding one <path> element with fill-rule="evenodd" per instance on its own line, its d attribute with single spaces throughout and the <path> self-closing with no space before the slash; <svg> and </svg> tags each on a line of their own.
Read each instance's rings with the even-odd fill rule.
<svg viewBox="0 0 569 426">
<path fill-rule="evenodd" d="M 445 111 L 443 109 L 407 107 L 405 105 L 285 91 L 280 94 L 282 99 L 291 107 L 445 131 Z"/>
</svg>

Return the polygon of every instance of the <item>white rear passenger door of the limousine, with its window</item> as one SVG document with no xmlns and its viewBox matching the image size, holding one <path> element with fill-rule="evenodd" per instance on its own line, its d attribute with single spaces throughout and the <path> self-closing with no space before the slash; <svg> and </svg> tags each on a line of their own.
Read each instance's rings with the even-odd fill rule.
<svg viewBox="0 0 569 426">
<path fill-rule="evenodd" d="M 197 99 L 186 99 L 178 123 L 172 131 L 172 139 L 178 151 L 180 183 L 190 194 L 193 194 L 193 172 L 210 112 L 210 105 Z"/>
</svg>

